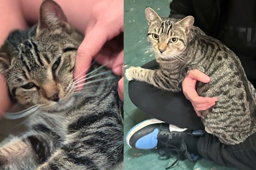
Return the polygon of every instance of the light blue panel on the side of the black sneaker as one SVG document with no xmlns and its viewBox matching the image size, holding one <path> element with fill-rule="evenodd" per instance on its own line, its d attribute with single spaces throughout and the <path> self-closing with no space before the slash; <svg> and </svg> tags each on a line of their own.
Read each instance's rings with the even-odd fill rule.
<svg viewBox="0 0 256 170">
<path fill-rule="evenodd" d="M 153 149 L 157 147 L 157 135 L 159 130 L 156 128 L 153 132 L 145 135 L 137 140 L 135 147 L 137 149 Z"/>
</svg>

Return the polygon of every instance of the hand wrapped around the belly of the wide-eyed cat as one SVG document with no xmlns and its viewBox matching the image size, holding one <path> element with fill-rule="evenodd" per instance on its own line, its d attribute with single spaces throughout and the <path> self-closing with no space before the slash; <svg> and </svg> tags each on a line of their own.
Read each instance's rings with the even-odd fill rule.
<svg viewBox="0 0 256 170">
<path fill-rule="evenodd" d="M 199 70 L 190 70 L 182 81 L 182 91 L 185 97 L 192 103 L 197 115 L 201 117 L 200 111 L 207 110 L 215 105 L 217 97 L 199 96 L 195 89 L 197 81 L 208 83 L 210 81 L 210 77 Z"/>
</svg>

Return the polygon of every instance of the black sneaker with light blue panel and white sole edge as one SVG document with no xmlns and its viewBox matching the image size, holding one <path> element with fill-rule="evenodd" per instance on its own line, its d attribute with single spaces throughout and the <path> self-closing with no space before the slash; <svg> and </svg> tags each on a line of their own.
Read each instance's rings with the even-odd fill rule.
<svg viewBox="0 0 256 170">
<path fill-rule="evenodd" d="M 158 119 L 148 119 L 135 125 L 126 136 L 126 142 L 130 147 L 137 149 L 157 149 L 162 157 L 170 158 L 170 154 L 177 154 L 174 166 L 179 159 L 188 159 L 195 162 L 199 156 L 187 151 L 184 142 L 188 135 L 203 135 L 203 130 L 188 130 L 175 125 L 164 123 Z"/>
</svg>

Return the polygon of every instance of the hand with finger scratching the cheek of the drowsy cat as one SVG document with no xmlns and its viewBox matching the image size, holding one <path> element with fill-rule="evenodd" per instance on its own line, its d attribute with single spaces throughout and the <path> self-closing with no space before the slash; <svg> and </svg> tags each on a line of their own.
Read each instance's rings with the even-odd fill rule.
<svg viewBox="0 0 256 170">
<path fill-rule="evenodd" d="M 74 77 L 83 77 L 94 58 L 121 76 L 124 64 L 123 31 L 124 2 L 102 0 L 94 5 L 86 36 L 78 48 Z M 82 73 L 82 74 L 80 74 Z M 80 82 L 82 84 L 84 82 Z M 82 89 L 82 86 L 79 87 Z M 123 100 L 123 78 L 119 81 L 119 96 Z M 121 95 L 122 94 L 122 95 Z"/>
</svg>

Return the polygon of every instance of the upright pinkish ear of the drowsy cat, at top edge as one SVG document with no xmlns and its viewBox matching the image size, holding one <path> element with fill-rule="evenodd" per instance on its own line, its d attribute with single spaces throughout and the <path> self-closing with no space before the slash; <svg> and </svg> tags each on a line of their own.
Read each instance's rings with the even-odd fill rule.
<svg viewBox="0 0 256 170">
<path fill-rule="evenodd" d="M 44 0 L 40 6 L 36 36 L 38 37 L 46 31 L 54 32 L 63 29 L 67 33 L 71 33 L 71 27 L 61 7 L 52 0 Z"/>
</svg>

